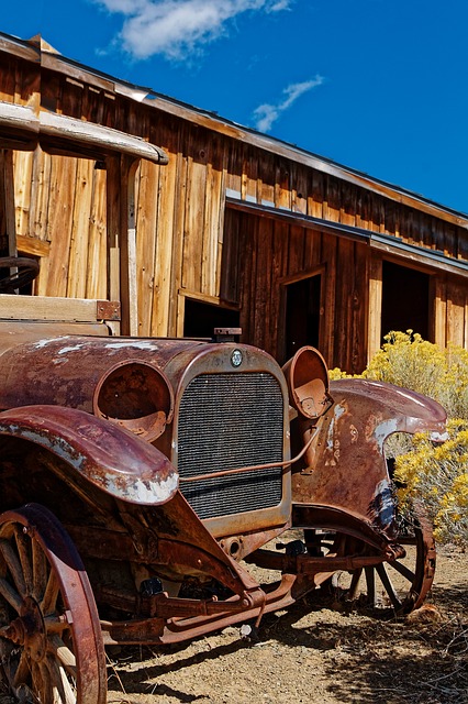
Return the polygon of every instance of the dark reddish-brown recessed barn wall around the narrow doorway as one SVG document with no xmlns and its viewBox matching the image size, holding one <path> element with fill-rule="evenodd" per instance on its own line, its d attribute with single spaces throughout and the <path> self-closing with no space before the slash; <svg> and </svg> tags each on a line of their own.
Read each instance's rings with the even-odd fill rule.
<svg viewBox="0 0 468 704">
<path fill-rule="evenodd" d="M 368 248 L 320 230 L 234 210 L 227 210 L 226 224 L 232 270 L 224 271 L 222 297 L 239 302 L 244 337 L 285 361 L 285 286 L 321 273 L 320 349 L 328 364 L 361 371 L 366 364 Z"/>
</svg>

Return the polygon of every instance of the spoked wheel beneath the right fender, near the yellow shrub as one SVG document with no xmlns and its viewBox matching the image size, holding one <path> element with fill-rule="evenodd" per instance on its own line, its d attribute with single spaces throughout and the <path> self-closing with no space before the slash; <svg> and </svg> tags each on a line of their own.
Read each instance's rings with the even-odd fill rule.
<svg viewBox="0 0 468 704">
<path fill-rule="evenodd" d="M 330 540 L 330 536 L 327 538 Z M 334 585 L 346 590 L 348 601 L 364 601 L 366 606 L 370 607 L 391 605 L 399 614 L 409 614 L 422 606 L 431 590 L 435 572 L 432 526 L 422 507 L 413 507 L 411 519 L 403 522 L 397 541 L 410 548 L 406 558 L 392 562 L 377 562 L 378 556 L 374 553 L 376 564 L 352 571 L 346 575 L 347 583 L 344 573 L 334 575 Z M 368 549 L 363 541 L 343 534 L 336 534 L 328 547 L 331 554 L 372 556 L 370 548 Z M 383 604 L 379 598 L 379 593 L 382 592 L 380 585 L 383 587 Z"/>
</svg>

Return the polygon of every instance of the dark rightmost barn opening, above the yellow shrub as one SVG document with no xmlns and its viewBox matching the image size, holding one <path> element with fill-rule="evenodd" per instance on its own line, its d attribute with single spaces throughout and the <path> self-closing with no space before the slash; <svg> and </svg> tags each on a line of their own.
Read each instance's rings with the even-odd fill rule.
<svg viewBox="0 0 468 704">
<path fill-rule="evenodd" d="M 390 330 L 413 330 L 430 340 L 430 284 L 428 274 L 382 262 L 382 341 Z"/>
</svg>

